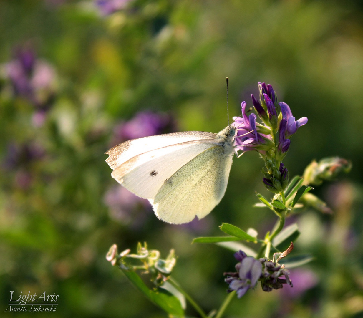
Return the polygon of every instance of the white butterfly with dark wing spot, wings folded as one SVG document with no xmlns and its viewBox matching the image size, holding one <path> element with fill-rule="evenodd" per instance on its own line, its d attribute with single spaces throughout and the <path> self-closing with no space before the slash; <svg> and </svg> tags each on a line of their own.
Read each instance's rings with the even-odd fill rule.
<svg viewBox="0 0 363 318">
<path fill-rule="evenodd" d="M 206 216 L 220 202 L 232 166 L 236 129 L 185 131 L 132 139 L 106 154 L 111 176 L 152 204 L 155 215 L 181 224 Z"/>
</svg>

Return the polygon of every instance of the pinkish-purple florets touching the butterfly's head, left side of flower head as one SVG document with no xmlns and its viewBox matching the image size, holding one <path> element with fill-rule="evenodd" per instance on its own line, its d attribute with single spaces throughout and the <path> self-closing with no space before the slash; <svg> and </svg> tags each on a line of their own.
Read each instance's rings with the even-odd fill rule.
<svg viewBox="0 0 363 318">
<path fill-rule="evenodd" d="M 269 135 L 260 134 L 256 128 L 256 114 L 246 114 L 246 102 L 241 103 L 242 106 L 242 118 L 233 117 L 234 126 L 237 130 L 234 143 L 237 148 L 242 151 L 249 150 L 268 150 L 271 147 L 271 140 Z"/>
</svg>

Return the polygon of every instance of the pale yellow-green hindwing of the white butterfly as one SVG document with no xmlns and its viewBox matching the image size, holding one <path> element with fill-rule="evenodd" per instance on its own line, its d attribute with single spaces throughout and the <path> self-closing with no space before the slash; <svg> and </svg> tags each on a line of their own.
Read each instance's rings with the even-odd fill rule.
<svg viewBox="0 0 363 318">
<path fill-rule="evenodd" d="M 175 172 L 150 200 L 157 217 L 181 224 L 206 216 L 222 199 L 227 188 L 232 155 L 215 145 Z"/>
</svg>

